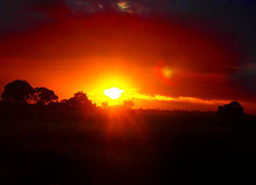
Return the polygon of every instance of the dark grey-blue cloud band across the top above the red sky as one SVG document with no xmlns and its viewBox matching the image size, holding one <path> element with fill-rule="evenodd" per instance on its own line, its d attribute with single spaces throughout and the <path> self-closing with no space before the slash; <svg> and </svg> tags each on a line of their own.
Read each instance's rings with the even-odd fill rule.
<svg viewBox="0 0 256 185">
<path fill-rule="evenodd" d="M 63 16 L 122 12 L 162 16 L 197 26 L 235 34 L 249 50 L 255 46 L 256 2 L 253 0 L 9 0 L 0 2 L 1 30 L 19 30 Z"/>
</svg>

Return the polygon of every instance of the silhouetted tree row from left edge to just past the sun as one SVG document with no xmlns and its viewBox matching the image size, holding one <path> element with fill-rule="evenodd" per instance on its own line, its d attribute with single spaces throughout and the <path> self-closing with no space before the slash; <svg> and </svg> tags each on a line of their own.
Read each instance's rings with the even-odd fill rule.
<svg viewBox="0 0 256 185">
<path fill-rule="evenodd" d="M 66 107 L 90 108 L 96 107 L 96 103 L 92 103 L 87 97 L 87 93 L 77 92 L 73 97 L 64 99 L 59 102 L 58 96 L 52 90 L 46 87 L 33 88 L 30 83 L 23 80 L 15 80 L 5 85 L 4 93 L 1 95 L 2 102 L 12 104 L 34 104 L 43 105 L 63 105 Z M 130 109 L 135 106 L 132 101 L 122 102 L 124 108 Z M 102 102 L 103 108 L 108 108 L 108 102 Z"/>
</svg>

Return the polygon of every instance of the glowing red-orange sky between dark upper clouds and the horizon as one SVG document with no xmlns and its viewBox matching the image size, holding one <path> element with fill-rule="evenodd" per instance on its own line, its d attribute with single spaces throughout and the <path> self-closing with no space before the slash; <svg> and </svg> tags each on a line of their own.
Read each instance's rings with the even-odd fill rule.
<svg viewBox="0 0 256 185">
<path fill-rule="evenodd" d="M 137 107 L 205 111 L 238 101 L 254 113 L 255 93 L 234 80 L 244 57 L 232 34 L 175 17 L 70 16 L 0 38 L 0 91 L 22 79 L 60 99 L 84 91 L 94 101 L 95 89 L 118 81 Z"/>
</svg>

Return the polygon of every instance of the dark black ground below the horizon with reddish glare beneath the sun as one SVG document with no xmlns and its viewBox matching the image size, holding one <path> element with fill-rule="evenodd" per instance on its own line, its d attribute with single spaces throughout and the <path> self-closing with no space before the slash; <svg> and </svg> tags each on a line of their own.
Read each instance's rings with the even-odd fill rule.
<svg viewBox="0 0 256 185">
<path fill-rule="evenodd" d="M 256 182 L 256 119 L 215 112 L 0 112 L 0 184 Z"/>
</svg>

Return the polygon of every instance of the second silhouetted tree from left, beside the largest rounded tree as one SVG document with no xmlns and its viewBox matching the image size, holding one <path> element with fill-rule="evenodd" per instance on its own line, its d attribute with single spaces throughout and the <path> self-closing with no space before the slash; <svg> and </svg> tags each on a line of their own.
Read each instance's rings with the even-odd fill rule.
<svg viewBox="0 0 256 185">
<path fill-rule="evenodd" d="M 57 102 L 58 100 L 56 94 L 53 91 L 48 90 L 46 87 L 36 87 L 35 91 L 36 102 L 47 104 L 49 102 Z"/>
</svg>

